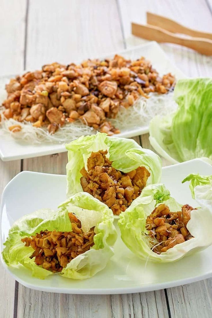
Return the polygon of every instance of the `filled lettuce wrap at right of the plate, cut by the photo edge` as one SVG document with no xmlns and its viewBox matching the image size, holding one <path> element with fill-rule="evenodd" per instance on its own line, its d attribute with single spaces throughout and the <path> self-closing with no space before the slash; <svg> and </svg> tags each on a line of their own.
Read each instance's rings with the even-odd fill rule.
<svg viewBox="0 0 212 318">
<path fill-rule="evenodd" d="M 179 204 L 164 184 L 147 186 L 120 214 L 121 238 L 138 257 L 173 262 L 212 244 L 212 184 L 208 178 L 189 175 L 196 208 Z"/>
</svg>

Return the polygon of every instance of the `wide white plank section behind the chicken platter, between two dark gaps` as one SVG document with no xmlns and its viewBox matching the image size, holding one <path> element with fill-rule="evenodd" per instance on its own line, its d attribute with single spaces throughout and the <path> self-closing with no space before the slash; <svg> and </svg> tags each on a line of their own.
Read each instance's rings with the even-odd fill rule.
<svg viewBox="0 0 212 318">
<path fill-rule="evenodd" d="M 27 68 L 123 49 L 115 0 L 31 1 L 28 22 Z"/>
</svg>

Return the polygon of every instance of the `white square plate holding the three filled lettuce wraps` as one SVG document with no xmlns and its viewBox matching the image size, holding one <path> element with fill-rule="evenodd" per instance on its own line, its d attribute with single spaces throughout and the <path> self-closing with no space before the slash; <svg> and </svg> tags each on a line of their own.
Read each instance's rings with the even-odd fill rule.
<svg viewBox="0 0 212 318">
<path fill-rule="evenodd" d="M 197 206 L 191 198 L 189 184 L 181 181 L 189 173 L 211 175 L 212 166 L 200 159 L 162 169 L 162 182 L 178 202 Z M 56 209 L 65 200 L 66 176 L 24 171 L 4 189 L 1 204 L 1 251 L 10 226 L 24 214 L 41 208 Z M 115 220 L 116 222 L 117 220 Z M 118 228 L 117 228 L 118 230 Z M 194 255 L 167 264 L 137 258 L 122 242 L 115 243 L 115 255 L 105 269 L 90 279 L 71 280 L 52 275 L 45 280 L 31 276 L 26 268 L 4 267 L 26 287 L 70 294 L 124 294 L 157 290 L 202 280 L 212 276 L 212 246 Z M 195 265 L 194 265 L 195 264 Z"/>
</svg>

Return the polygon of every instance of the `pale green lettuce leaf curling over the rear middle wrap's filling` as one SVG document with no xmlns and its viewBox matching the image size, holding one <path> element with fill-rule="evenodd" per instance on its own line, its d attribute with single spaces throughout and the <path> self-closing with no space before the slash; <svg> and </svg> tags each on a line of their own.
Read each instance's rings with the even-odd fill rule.
<svg viewBox="0 0 212 318">
<path fill-rule="evenodd" d="M 109 137 L 103 133 L 82 136 L 66 144 L 68 150 L 67 197 L 82 191 L 80 170 L 85 166 L 92 152 L 107 150 L 112 166 L 124 173 L 139 166 L 144 166 L 150 172 L 147 183 L 157 183 L 161 179 L 161 159 L 153 151 L 143 149 L 132 139 Z"/>
</svg>

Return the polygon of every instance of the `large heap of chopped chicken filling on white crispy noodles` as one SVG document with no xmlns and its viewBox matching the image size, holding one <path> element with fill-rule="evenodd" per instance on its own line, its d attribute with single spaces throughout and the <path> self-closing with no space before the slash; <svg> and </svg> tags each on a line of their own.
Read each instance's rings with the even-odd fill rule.
<svg viewBox="0 0 212 318">
<path fill-rule="evenodd" d="M 88 59 L 66 66 L 52 63 L 10 79 L 3 114 L 6 119 L 31 122 L 34 127 L 46 126 L 51 134 L 79 119 L 113 135 L 120 131 L 106 118 L 115 118 L 121 106 L 132 106 L 140 96 L 168 93 L 174 85 L 174 76 L 159 77 L 144 57 L 131 61 L 115 55 L 113 59 Z"/>
</svg>

